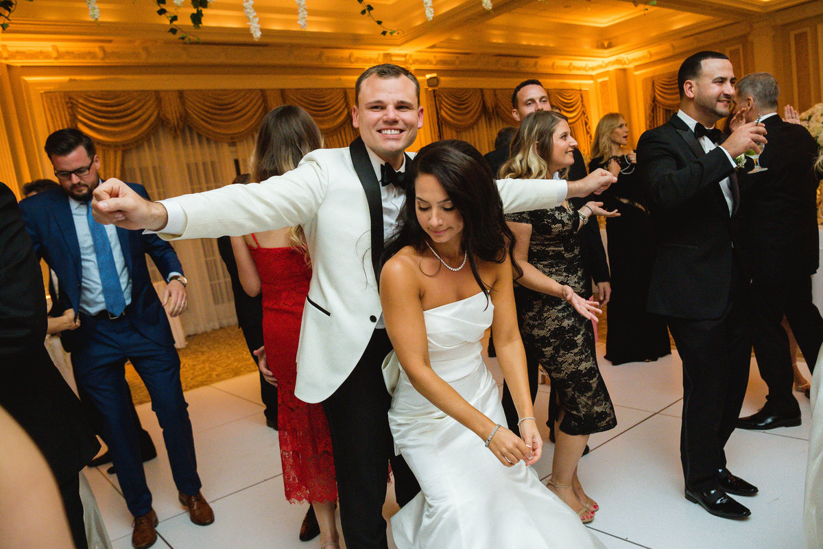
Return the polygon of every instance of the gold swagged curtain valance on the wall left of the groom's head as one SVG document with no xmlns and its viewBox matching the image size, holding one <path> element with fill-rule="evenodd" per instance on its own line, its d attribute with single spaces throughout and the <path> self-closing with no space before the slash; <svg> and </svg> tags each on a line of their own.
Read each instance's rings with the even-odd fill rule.
<svg viewBox="0 0 823 549">
<path fill-rule="evenodd" d="M 299 105 L 318 123 L 326 147 L 346 147 L 354 92 L 309 90 L 83 91 L 43 94 L 49 132 L 78 128 L 94 139 L 100 159 L 119 177 L 123 151 L 141 145 L 163 124 L 177 135 L 185 125 L 217 142 L 257 133 L 263 116 L 279 105 Z"/>
</svg>

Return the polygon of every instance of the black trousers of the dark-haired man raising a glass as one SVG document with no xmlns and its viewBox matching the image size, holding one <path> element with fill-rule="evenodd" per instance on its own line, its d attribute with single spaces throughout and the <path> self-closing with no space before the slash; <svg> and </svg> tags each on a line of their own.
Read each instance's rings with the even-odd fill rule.
<svg viewBox="0 0 823 549">
<path fill-rule="evenodd" d="M 728 306 L 718 319 L 668 317 L 683 362 L 681 462 L 686 486 L 714 487 L 726 467 L 723 448 L 746 396 L 751 361 L 749 292 L 735 276 Z"/>
</svg>

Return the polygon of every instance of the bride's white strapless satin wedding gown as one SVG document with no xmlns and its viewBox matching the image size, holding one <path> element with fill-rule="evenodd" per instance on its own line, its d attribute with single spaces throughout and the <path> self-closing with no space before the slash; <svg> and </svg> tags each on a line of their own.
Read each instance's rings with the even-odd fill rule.
<svg viewBox="0 0 823 549">
<path fill-rule="evenodd" d="M 425 311 L 431 366 L 472 406 L 505 424 L 481 359 L 493 305 L 482 292 Z M 523 462 L 504 467 L 466 427 L 400 373 L 388 412 L 395 448 L 421 493 L 392 518 L 398 549 L 587 549 L 603 547 L 577 514 Z M 604 548 L 605 549 L 605 548 Z"/>
</svg>

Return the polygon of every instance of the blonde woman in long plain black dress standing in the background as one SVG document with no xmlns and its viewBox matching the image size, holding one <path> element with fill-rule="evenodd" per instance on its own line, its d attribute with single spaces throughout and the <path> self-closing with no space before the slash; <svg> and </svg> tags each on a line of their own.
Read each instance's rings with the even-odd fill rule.
<svg viewBox="0 0 823 549">
<path fill-rule="evenodd" d="M 597 123 L 589 170 L 604 168 L 617 183 L 602 194 L 609 209 L 620 217 L 606 220 L 611 300 L 607 308 L 606 358 L 611 364 L 655 361 L 671 349 L 666 322 L 646 312 L 652 274 L 653 233 L 643 205 L 635 171 L 635 151 L 628 148 L 629 128 L 619 113 L 609 113 Z M 624 154 L 625 153 L 625 154 Z"/>
</svg>

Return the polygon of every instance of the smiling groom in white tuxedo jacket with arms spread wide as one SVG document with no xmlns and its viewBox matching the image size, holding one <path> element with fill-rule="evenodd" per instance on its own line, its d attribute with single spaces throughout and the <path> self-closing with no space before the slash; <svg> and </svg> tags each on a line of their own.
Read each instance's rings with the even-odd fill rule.
<svg viewBox="0 0 823 549">
<path fill-rule="evenodd" d="M 165 239 L 246 235 L 303 226 L 313 275 L 300 329 L 295 394 L 323 402 L 332 434 L 341 522 L 350 549 L 387 547 L 382 507 L 388 461 L 398 503 L 419 487 L 393 455 L 387 412 L 391 398 L 380 365 L 391 350 L 378 294 L 384 239 L 405 199 L 405 150 L 423 124 L 420 84 L 396 65 L 363 72 L 355 87 L 350 147 L 313 151 L 291 172 L 260 184 L 146 202 L 117 179 L 95 191 L 95 217 L 145 228 Z M 402 179 L 402 178 L 401 178 Z M 507 212 L 555 207 L 565 198 L 600 192 L 615 178 L 605 170 L 579 182 L 505 179 Z M 482 441 L 478 440 L 478 444 Z"/>
</svg>

